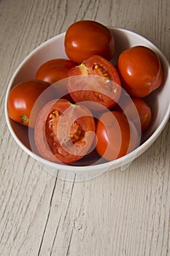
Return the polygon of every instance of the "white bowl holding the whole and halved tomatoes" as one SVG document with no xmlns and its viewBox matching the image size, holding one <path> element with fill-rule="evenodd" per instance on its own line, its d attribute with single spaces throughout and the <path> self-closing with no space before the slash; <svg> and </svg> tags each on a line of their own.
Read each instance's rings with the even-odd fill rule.
<svg viewBox="0 0 170 256">
<path fill-rule="evenodd" d="M 149 148 L 152 143 L 158 138 L 166 123 L 169 120 L 170 114 L 170 67 L 169 62 L 166 60 L 163 53 L 152 44 L 152 42 L 148 41 L 144 37 L 139 34 L 135 34 L 132 31 L 128 31 L 125 29 L 116 29 L 110 28 L 115 35 L 115 43 L 116 43 L 116 53 L 115 57 L 112 60 L 114 64 L 117 62 L 117 57 L 122 50 L 126 48 L 130 48 L 134 45 L 145 45 L 155 53 L 158 54 L 161 59 L 161 63 L 163 65 L 163 84 L 156 91 L 152 92 L 147 100 L 150 102 L 150 106 L 152 108 L 152 123 L 150 128 L 147 130 L 144 137 L 142 137 L 142 144 L 132 151 L 130 154 L 127 154 L 125 157 L 121 157 L 120 159 L 116 159 L 112 162 L 97 162 L 93 161 L 91 164 L 90 160 L 82 159 L 79 162 L 79 166 L 76 165 L 61 165 L 53 162 L 49 162 L 42 157 L 39 157 L 38 154 L 35 154 L 30 145 L 29 136 L 28 136 L 28 127 L 21 126 L 20 124 L 12 121 L 7 113 L 7 99 L 10 89 L 15 86 L 17 83 L 22 82 L 23 80 L 29 80 L 35 78 L 36 70 L 39 66 L 47 60 L 55 59 L 55 58 L 67 58 L 65 50 L 64 50 L 64 33 L 55 36 L 38 48 L 33 50 L 26 59 L 24 59 L 19 65 L 18 69 L 16 69 L 14 75 L 9 82 L 7 88 L 7 94 L 5 99 L 5 116 L 7 120 L 7 126 L 9 127 L 9 131 L 11 132 L 13 138 L 16 140 L 18 145 L 26 151 L 31 157 L 34 157 L 42 167 L 47 170 L 53 176 L 58 176 L 58 178 L 66 179 L 69 181 L 82 181 L 90 178 L 94 178 L 101 173 L 104 173 L 107 170 L 114 170 L 120 167 L 121 170 L 125 170 L 126 167 L 131 165 L 131 162 L 136 157 L 139 157 L 144 151 Z"/>
</svg>

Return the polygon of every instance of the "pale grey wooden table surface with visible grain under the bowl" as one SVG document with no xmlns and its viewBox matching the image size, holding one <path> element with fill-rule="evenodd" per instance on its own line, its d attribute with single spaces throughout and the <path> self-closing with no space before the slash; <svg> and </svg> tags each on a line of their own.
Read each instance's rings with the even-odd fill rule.
<svg viewBox="0 0 170 256">
<path fill-rule="evenodd" d="M 12 73 L 38 45 L 76 20 L 129 29 L 170 61 L 169 0 L 0 1 L 0 255 L 170 255 L 170 129 L 125 171 L 90 181 L 50 176 L 9 133 Z"/>
</svg>

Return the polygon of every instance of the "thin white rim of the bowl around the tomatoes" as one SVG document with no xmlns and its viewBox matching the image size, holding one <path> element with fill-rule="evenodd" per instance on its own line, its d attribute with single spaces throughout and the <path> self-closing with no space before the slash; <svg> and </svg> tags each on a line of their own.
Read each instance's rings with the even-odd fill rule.
<svg viewBox="0 0 170 256">
<path fill-rule="evenodd" d="M 159 53 L 159 55 L 161 56 L 161 59 L 163 59 L 163 61 L 165 62 L 165 64 L 168 67 L 168 72 L 170 73 L 170 65 L 169 62 L 167 61 L 166 57 L 163 55 L 163 53 L 161 52 L 161 50 L 159 50 L 159 48 L 157 48 L 157 46 L 155 46 L 152 42 L 150 42 L 150 40 L 148 40 L 147 38 L 143 37 L 140 34 L 136 34 L 134 31 L 131 31 L 129 29 L 122 29 L 122 28 L 116 28 L 113 26 L 109 26 L 109 29 L 113 29 L 113 30 L 117 30 L 117 31 L 123 31 L 125 33 L 129 33 L 129 34 L 134 34 L 137 37 L 140 37 L 142 39 L 144 39 L 145 42 L 147 42 L 149 45 L 152 46 L 152 48 L 155 48 L 155 50 Z M 14 130 L 12 129 L 12 125 L 7 113 L 7 99 L 8 99 L 8 95 L 9 95 L 9 91 L 12 87 L 12 83 L 15 80 L 15 77 L 18 75 L 18 72 L 20 72 L 20 68 L 23 67 L 23 64 L 26 63 L 26 61 L 28 61 L 28 59 L 30 59 L 34 53 L 36 53 L 37 50 L 39 50 L 40 48 L 43 48 L 45 45 L 47 45 L 49 42 L 52 42 L 53 40 L 56 39 L 56 37 L 64 37 L 64 35 L 66 34 L 66 32 L 63 32 L 61 34 L 55 35 L 54 37 L 51 37 L 50 39 L 47 39 L 47 41 L 42 42 L 41 45 L 37 46 L 36 48 L 34 48 L 34 50 L 32 50 L 30 53 L 28 53 L 28 55 L 23 59 L 23 61 L 20 62 L 20 64 L 18 65 L 17 69 L 15 69 L 15 72 L 12 75 L 12 78 L 9 80 L 8 86 L 7 86 L 7 91 L 6 91 L 6 95 L 5 95 L 5 100 L 4 100 L 4 113 L 5 113 L 5 119 L 7 122 L 7 127 L 9 129 L 9 132 L 11 133 L 12 137 L 14 138 L 15 142 L 18 143 L 18 146 L 20 146 L 20 148 L 23 149 L 23 151 L 25 151 L 30 157 L 33 157 L 34 159 L 38 160 L 40 163 L 48 165 L 49 167 L 55 167 L 56 170 L 70 170 L 70 171 L 78 171 L 80 173 L 80 171 L 83 173 L 85 171 L 87 171 L 87 168 L 93 169 L 93 170 L 98 170 L 98 169 L 110 169 L 111 167 L 114 167 L 113 169 L 120 167 L 121 164 L 123 165 L 123 162 L 125 163 L 131 163 L 134 161 L 134 159 L 136 159 L 137 157 L 139 157 L 141 154 L 144 153 L 144 151 L 147 150 L 147 148 L 149 148 L 152 143 L 155 142 L 155 140 L 158 138 L 158 136 L 161 134 L 161 132 L 163 131 L 163 128 L 166 126 L 167 122 L 169 121 L 169 117 L 170 117 L 170 102 L 169 102 L 169 107 L 166 110 L 166 114 L 163 117 L 163 120 L 161 121 L 161 124 L 159 124 L 158 128 L 155 129 L 155 131 L 152 133 L 152 135 L 150 135 L 149 138 L 147 138 L 147 140 L 144 141 L 144 143 L 142 143 L 139 147 L 137 147 L 136 149 L 134 149 L 134 151 L 131 151 L 129 154 L 120 157 L 119 159 L 115 159 L 113 161 L 109 161 L 109 162 L 104 162 L 104 163 L 100 163 L 100 164 L 94 164 L 94 165 L 64 165 L 64 164 L 58 164 L 55 162 L 50 162 L 46 159 L 44 159 L 43 157 L 39 157 L 39 155 L 36 155 L 34 152 L 32 152 L 30 149 L 28 149 L 18 138 L 17 135 L 15 135 Z"/>
</svg>

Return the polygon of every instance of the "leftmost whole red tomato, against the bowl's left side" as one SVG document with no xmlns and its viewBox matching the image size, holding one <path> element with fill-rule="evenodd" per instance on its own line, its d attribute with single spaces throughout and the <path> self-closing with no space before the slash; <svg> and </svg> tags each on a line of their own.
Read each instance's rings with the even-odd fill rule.
<svg viewBox="0 0 170 256">
<path fill-rule="evenodd" d="M 48 86 L 50 86 L 49 83 L 40 80 L 27 80 L 18 83 L 9 91 L 7 100 L 9 117 L 20 124 L 34 127 L 36 116 L 30 121 L 31 111 L 36 99 Z"/>
</svg>

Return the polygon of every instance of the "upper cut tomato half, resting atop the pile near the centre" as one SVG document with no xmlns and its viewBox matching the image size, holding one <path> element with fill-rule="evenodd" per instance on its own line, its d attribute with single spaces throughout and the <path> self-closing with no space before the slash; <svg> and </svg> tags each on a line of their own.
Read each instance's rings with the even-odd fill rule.
<svg viewBox="0 0 170 256">
<path fill-rule="evenodd" d="M 115 67 L 101 56 L 92 56 L 67 74 L 67 88 L 74 102 L 96 102 L 112 108 L 121 94 L 120 78 Z M 89 105 L 89 108 L 93 105 Z"/>
</svg>

